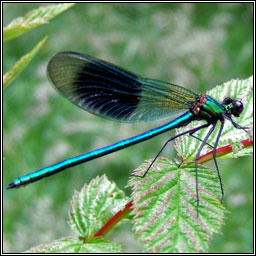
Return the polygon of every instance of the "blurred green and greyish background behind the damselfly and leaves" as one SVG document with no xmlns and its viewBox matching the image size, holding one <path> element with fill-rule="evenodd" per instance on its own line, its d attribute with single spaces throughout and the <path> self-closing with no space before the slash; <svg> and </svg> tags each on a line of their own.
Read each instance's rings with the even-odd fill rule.
<svg viewBox="0 0 256 256">
<path fill-rule="evenodd" d="M 4 4 L 4 26 L 43 5 Z M 162 124 L 120 124 L 75 107 L 47 80 L 47 62 L 55 53 L 86 53 L 198 93 L 253 74 L 252 3 L 77 4 L 49 24 L 5 43 L 4 73 L 45 35 L 49 37 L 41 51 L 4 90 L 4 252 L 22 252 L 74 235 L 67 224 L 74 190 L 106 173 L 130 195 L 125 186 L 132 170 L 153 158 L 173 134 L 7 191 L 5 187 L 20 175 Z M 173 145 L 163 155 L 176 157 Z M 252 252 L 252 157 L 218 162 L 229 213 L 222 234 L 214 236 L 208 252 Z M 130 223 L 117 227 L 108 238 L 123 243 L 126 252 L 143 250 Z"/>
</svg>

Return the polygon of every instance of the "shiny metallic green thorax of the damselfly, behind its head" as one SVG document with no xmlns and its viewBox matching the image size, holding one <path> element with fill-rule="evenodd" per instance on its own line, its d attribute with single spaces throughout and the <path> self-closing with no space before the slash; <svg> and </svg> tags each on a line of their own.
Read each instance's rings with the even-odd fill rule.
<svg viewBox="0 0 256 256">
<path fill-rule="evenodd" d="M 199 97 L 201 97 L 201 95 Z M 200 106 L 200 111 L 197 116 L 200 119 L 211 121 L 221 118 L 224 111 L 225 107 L 222 104 L 207 95 L 206 102 Z"/>
</svg>

